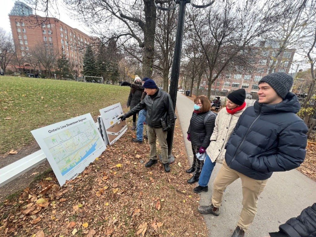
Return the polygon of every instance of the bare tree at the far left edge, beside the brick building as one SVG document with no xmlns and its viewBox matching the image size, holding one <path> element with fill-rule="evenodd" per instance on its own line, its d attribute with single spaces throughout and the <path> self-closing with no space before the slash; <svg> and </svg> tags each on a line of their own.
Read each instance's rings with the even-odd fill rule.
<svg viewBox="0 0 316 237">
<path fill-rule="evenodd" d="M 0 27 L 0 69 L 6 73 L 11 58 L 13 57 L 14 45 L 11 36 Z"/>
</svg>

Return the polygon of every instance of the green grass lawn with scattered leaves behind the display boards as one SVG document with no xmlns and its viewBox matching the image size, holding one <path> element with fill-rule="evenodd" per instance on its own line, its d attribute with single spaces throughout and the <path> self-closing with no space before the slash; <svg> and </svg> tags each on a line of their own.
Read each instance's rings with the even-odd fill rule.
<svg viewBox="0 0 316 237">
<path fill-rule="evenodd" d="M 0 76 L 0 155 L 34 141 L 34 129 L 86 113 L 95 119 L 99 109 L 118 102 L 124 107 L 129 91 L 109 84 Z"/>
</svg>

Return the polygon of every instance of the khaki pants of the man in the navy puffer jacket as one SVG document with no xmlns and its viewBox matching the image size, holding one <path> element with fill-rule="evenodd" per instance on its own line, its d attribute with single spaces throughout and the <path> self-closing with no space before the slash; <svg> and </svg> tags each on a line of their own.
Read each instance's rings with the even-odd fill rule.
<svg viewBox="0 0 316 237">
<path fill-rule="evenodd" d="M 242 185 L 243 208 L 237 225 L 246 231 L 256 215 L 258 197 L 264 190 L 268 179 L 257 180 L 249 178 L 248 176 L 229 168 L 225 160 L 223 160 L 223 165 L 214 180 L 212 204 L 214 207 L 220 207 L 223 200 L 224 190 L 238 178 L 240 178 Z"/>
</svg>

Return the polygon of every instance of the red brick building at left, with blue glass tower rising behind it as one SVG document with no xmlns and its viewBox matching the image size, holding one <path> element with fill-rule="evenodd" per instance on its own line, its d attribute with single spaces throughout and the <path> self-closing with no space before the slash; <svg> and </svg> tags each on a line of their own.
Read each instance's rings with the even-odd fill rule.
<svg viewBox="0 0 316 237">
<path fill-rule="evenodd" d="M 54 17 L 33 15 L 29 6 L 18 1 L 9 14 L 9 20 L 15 47 L 19 49 L 18 56 L 23 59 L 20 67 L 31 69 L 30 57 L 27 56 L 43 44 L 47 52 L 58 55 L 63 49 L 70 62 L 82 68 L 85 47 L 91 43 L 92 37 Z M 41 66 L 43 69 L 40 63 L 36 65 L 36 70 L 40 70 Z"/>
</svg>

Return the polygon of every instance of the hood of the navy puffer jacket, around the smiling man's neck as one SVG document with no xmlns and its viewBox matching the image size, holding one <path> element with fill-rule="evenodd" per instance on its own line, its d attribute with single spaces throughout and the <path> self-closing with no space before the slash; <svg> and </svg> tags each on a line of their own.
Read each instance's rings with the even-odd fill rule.
<svg viewBox="0 0 316 237">
<path fill-rule="evenodd" d="M 256 113 L 259 113 L 260 107 L 262 113 L 271 113 L 271 112 L 292 112 L 297 113 L 301 109 L 301 104 L 297 100 L 297 96 L 292 92 L 289 92 L 284 100 L 277 104 L 261 104 L 258 100 L 254 103 L 254 109 Z"/>
</svg>

